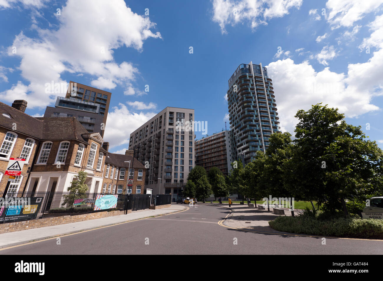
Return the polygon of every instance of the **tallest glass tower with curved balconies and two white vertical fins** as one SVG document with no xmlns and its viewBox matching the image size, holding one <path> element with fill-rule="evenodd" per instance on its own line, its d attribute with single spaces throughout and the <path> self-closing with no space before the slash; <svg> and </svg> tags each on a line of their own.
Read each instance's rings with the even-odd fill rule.
<svg viewBox="0 0 383 281">
<path fill-rule="evenodd" d="M 228 82 L 232 160 L 246 164 L 267 149 L 271 134 L 280 133 L 273 83 L 267 69 L 252 62 L 239 65 Z"/>
</svg>

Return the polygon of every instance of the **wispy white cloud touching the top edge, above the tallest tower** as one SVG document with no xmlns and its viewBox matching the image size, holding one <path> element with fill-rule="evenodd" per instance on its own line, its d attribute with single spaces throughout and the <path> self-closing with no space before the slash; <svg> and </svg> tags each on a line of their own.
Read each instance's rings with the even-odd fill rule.
<svg viewBox="0 0 383 281">
<path fill-rule="evenodd" d="M 213 21 L 227 33 L 225 26 L 234 26 L 241 22 L 250 22 L 254 30 L 259 24 L 267 24 L 267 19 L 282 17 L 289 9 L 300 8 L 302 0 L 214 0 Z"/>
</svg>

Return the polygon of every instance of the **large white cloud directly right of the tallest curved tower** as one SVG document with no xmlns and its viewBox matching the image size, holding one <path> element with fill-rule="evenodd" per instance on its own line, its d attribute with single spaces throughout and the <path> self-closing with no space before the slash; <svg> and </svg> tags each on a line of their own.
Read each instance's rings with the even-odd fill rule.
<svg viewBox="0 0 383 281">
<path fill-rule="evenodd" d="M 346 117 L 379 109 L 371 102 L 383 94 L 383 49 L 366 63 L 349 64 L 347 75 L 328 67 L 316 72 L 307 61 L 295 64 L 290 58 L 270 63 L 267 70 L 273 79 L 282 129 L 290 133 L 298 121 L 294 117 L 297 110 L 308 110 L 318 102 L 337 107 Z"/>
</svg>

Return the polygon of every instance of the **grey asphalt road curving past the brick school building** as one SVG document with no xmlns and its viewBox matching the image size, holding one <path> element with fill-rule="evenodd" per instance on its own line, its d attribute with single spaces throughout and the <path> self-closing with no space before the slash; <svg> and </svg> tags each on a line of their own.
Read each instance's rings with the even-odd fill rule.
<svg viewBox="0 0 383 281">
<path fill-rule="evenodd" d="M 260 234 L 220 226 L 229 210 L 198 205 L 187 211 L 80 232 L 0 250 L 0 255 L 39 254 L 383 254 L 383 242 Z M 234 242 L 237 241 L 237 244 Z"/>
</svg>

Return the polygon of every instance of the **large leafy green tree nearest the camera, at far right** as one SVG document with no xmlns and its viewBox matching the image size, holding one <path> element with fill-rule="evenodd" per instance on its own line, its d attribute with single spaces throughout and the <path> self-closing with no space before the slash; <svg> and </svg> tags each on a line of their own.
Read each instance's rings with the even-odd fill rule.
<svg viewBox="0 0 383 281">
<path fill-rule="evenodd" d="M 298 110 L 295 117 L 300 121 L 284 167 L 286 188 L 345 215 L 347 198 L 383 190 L 382 151 L 360 126 L 347 124 L 338 109 L 321 104 Z"/>
</svg>

